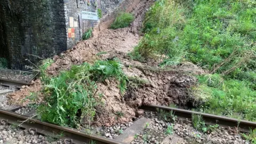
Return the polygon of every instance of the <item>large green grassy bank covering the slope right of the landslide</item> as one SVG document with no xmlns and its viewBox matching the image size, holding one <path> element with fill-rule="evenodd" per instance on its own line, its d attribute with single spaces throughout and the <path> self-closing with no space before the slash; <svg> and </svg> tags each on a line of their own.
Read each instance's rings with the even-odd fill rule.
<svg viewBox="0 0 256 144">
<path fill-rule="evenodd" d="M 162 67 L 191 61 L 210 74 L 190 89 L 206 113 L 256 121 L 256 3 L 159 0 L 129 55 Z"/>
</svg>

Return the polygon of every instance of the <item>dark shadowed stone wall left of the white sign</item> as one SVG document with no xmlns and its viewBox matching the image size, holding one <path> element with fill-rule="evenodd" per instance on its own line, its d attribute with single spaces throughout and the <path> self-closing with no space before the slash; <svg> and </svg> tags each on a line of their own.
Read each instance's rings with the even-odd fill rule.
<svg viewBox="0 0 256 144">
<path fill-rule="evenodd" d="M 48 58 L 67 50 L 63 0 L 2 1 L 0 31 L 6 42 L 0 52 L 9 53 L 4 57 L 11 68 L 25 69 L 26 59 L 36 63 L 37 56 Z"/>
</svg>

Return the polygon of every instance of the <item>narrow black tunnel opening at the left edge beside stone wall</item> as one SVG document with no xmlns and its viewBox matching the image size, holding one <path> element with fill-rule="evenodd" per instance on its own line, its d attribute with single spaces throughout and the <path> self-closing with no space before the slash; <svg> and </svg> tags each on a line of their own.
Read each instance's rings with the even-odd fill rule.
<svg viewBox="0 0 256 144">
<path fill-rule="evenodd" d="M 6 59 L 7 61 L 10 60 L 9 57 L 9 49 L 7 47 L 7 34 L 6 34 L 6 27 L 3 22 L 3 19 L 0 19 L 0 60 L 1 58 Z M 1 61 L 0 61 L 1 62 Z M 9 65 L 10 63 L 8 63 Z"/>
</svg>

